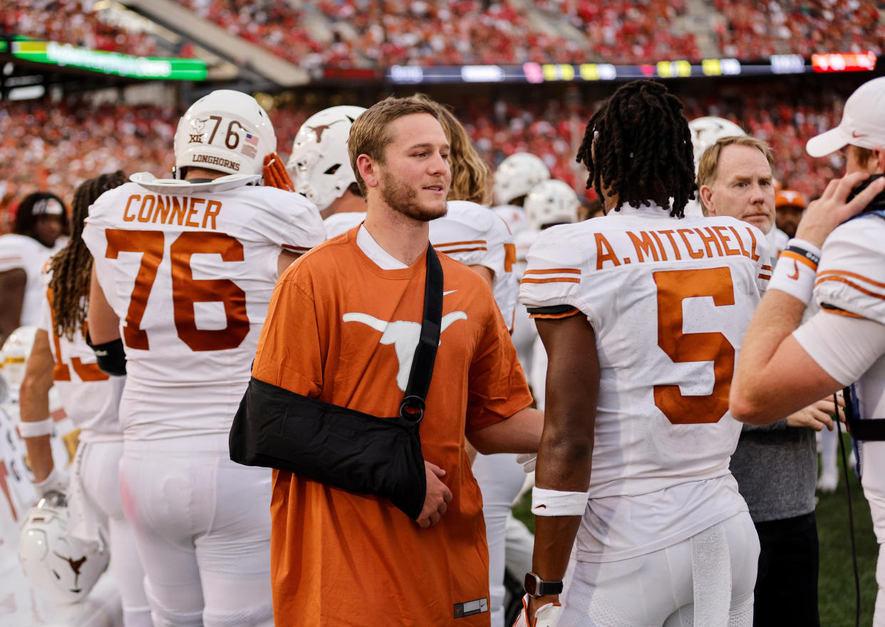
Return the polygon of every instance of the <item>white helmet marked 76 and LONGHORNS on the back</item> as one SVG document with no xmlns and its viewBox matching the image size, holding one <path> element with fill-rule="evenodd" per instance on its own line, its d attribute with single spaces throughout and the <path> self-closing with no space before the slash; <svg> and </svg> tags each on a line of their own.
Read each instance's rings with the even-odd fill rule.
<svg viewBox="0 0 885 627">
<path fill-rule="evenodd" d="M 276 152 L 276 134 L 255 98 L 217 89 L 181 116 L 173 149 L 176 179 L 189 165 L 226 174 L 260 174 L 265 157 Z"/>
</svg>

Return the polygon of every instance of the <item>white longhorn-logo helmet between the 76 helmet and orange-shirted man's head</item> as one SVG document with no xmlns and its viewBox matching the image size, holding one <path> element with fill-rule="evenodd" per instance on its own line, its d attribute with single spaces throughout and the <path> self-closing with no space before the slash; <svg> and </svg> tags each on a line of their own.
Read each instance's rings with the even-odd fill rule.
<svg viewBox="0 0 885 627">
<path fill-rule="evenodd" d="M 344 104 L 314 113 L 304 121 L 295 141 L 286 169 L 292 175 L 295 191 L 304 194 L 326 209 L 357 182 L 350 167 L 347 139 L 350 125 L 366 111 L 363 107 Z"/>
</svg>

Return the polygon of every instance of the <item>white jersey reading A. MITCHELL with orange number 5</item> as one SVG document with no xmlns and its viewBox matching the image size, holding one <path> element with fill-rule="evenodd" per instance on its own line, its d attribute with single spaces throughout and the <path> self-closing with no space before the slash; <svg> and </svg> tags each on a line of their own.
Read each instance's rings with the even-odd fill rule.
<svg viewBox="0 0 885 627">
<path fill-rule="evenodd" d="M 768 261 L 754 226 L 654 206 L 543 231 L 519 296 L 554 317 L 580 310 L 596 332 L 591 497 L 728 472 L 741 431 L 728 392 Z"/>
</svg>

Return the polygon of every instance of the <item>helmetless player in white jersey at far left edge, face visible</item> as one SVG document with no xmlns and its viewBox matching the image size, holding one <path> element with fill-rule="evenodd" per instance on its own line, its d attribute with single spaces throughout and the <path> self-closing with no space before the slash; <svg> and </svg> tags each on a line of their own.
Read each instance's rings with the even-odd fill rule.
<svg viewBox="0 0 885 627">
<path fill-rule="evenodd" d="M 19 326 L 40 321 L 40 271 L 65 246 L 67 224 L 61 198 L 35 192 L 19 204 L 12 233 L 0 236 L 0 346 Z"/>
</svg>

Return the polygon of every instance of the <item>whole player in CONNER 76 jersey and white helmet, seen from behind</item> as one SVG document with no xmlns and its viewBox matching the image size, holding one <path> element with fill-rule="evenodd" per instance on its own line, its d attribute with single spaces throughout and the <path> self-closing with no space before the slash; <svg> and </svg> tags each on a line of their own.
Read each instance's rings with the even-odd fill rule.
<svg viewBox="0 0 885 627">
<path fill-rule="evenodd" d="M 228 432 L 273 286 L 325 233 L 251 96 L 200 98 L 173 145 L 173 179 L 133 175 L 83 232 L 91 341 L 127 373 L 120 493 L 157 627 L 270 625 L 271 471 L 231 462 Z"/>
</svg>

